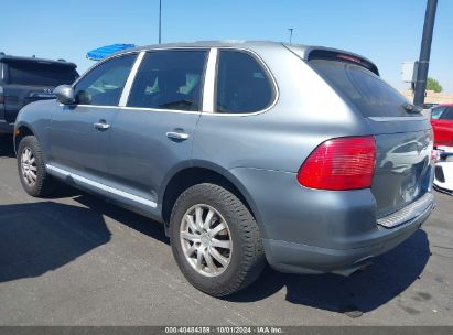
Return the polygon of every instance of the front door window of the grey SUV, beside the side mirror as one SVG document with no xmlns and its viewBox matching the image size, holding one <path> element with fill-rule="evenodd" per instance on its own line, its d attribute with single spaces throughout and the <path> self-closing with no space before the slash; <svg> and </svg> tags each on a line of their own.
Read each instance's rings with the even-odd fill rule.
<svg viewBox="0 0 453 335">
<path fill-rule="evenodd" d="M 91 69 L 74 87 L 76 104 L 118 106 L 137 54 L 111 58 Z"/>
</svg>

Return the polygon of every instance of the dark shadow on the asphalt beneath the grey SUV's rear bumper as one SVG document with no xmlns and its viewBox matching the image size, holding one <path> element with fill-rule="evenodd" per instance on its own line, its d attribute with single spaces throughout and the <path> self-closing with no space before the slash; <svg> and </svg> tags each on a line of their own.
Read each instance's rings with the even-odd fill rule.
<svg viewBox="0 0 453 335">
<path fill-rule="evenodd" d="M 259 301 L 284 287 L 285 299 L 291 303 L 358 317 L 409 288 L 420 278 L 429 257 L 427 234 L 418 230 L 393 250 L 375 258 L 370 268 L 350 277 L 283 274 L 268 267 L 257 282 L 226 300 Z M 423 293 L 420 299 L 429 299 L 428 295 Z"/>
</svg>

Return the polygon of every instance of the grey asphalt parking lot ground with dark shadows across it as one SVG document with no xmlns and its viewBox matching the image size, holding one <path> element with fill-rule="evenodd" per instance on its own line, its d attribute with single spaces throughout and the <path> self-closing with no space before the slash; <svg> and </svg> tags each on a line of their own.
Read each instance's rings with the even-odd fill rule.
<svg viewBox="0 0 453 335">
<path fill-rule="evenodd" d="M 0 148 L 0 325 L 453 325 L 453 197 L 350 278 L 266 269 L 224 300 L 192 288 L 163 227 L 63 188 L 30 197 Z"/>
</svg>

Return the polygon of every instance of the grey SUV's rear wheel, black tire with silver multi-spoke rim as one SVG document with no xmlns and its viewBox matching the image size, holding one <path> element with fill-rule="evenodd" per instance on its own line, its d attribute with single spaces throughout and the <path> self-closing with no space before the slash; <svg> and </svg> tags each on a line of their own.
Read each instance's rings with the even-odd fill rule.
<svg viewBox="0 0 453 335">
<path fill-rule="evenodd" d="M 202 217 L 201 225 L 211 221 L 208 228 L 202 228 L 197 217 Z M 233 193 L 215 184 L 197 184 L 180 195 L 170 218 L 170 239 L 181 272 L 192 285 L 213 296 L 245 289 L 266 264 L 254 216 Z"/>
</svg>

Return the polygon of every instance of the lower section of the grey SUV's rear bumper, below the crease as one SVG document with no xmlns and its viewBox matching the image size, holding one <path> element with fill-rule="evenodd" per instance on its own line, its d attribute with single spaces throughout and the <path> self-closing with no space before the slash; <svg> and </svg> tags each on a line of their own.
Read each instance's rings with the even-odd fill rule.
<svg viewBox="0 0 453 335">
<path fill-rule="evenodd" d="M 421 215 L 409 223 L 387 229 L 386 236 L 378 244 L 354 249 L 328 249 L 305 246 L 281 240 L 265 240 L 267 258 L 272 268 L 290 273 L 324 273 L 350 274 L 379 256 L 409 238 L 427 220 L 434 208 L 431 204 Z"/>
</svg>

